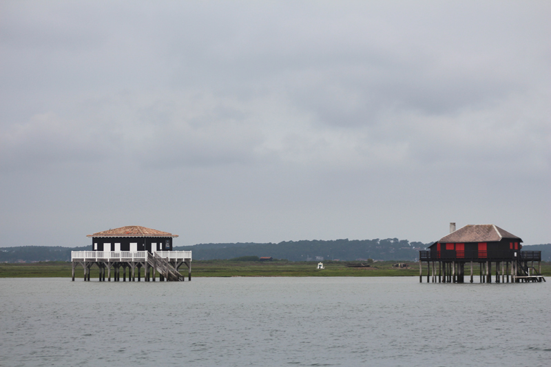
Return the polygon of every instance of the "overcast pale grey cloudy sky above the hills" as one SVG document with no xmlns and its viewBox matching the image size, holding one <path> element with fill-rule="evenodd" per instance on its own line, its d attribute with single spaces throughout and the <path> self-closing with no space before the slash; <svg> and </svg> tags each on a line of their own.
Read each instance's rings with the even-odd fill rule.
<svg viewBox="0 0 551 367">
<path fill-rule="evenodd" d="M 0 247 L 551 242 L 549 1 L 1 1 Z"/>
</svg>

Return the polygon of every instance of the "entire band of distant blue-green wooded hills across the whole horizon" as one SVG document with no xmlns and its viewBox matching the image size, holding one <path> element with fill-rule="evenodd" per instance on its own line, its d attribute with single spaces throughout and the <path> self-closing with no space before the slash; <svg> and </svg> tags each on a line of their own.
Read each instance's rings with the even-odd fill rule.
<svg viewBox="0 0 551 367">
<path fill-rule="evenodd" d="M 291 261 L 323 260 L 404 260 L 414 261 L 419 249 L 430 243 L 408 242 L 397 238 L 386 240 L 312 240 L 280 243 L 219 243 L 176 246 L 177 251 L 193 251 L 194 260 L 227 260 L 243 256 L 271 257 Z M 20 246 L 0 248 L 0 262 L 70 261 L 71 251 L 91 251 L 84 247 Z M 523 246 L 526 251 L 542 251 L 541 260 L 551 261 L 551 244 Z"/>
</svg>

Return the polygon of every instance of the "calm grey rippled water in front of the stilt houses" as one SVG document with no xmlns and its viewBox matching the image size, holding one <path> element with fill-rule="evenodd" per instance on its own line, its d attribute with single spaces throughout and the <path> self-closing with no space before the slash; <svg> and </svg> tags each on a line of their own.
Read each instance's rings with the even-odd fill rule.
<svg viewBox="0 0 551 367">
<path fill-rule="evenodd" d="M 548 284 L 0 279 L 0 365 L 550 366 Z"/>
</svg>

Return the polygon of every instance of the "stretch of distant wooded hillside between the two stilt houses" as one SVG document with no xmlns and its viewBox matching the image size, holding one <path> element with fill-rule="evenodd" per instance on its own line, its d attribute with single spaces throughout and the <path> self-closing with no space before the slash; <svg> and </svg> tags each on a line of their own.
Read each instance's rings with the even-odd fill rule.
<svg viewBox="0 0 551 367">
<path fill-rule="evenodd" d="M 271 256 L 291 261 L 321 260 L 407 260 L 419 256 L 419 249 L 428 244 L 408 242 L 397 238 L 386 240 L 303 240 L 274 243 L 196 244 L 174 247 L 193 251 L 195 260 L 231 259 L 241 256 Z"/>
</svg>

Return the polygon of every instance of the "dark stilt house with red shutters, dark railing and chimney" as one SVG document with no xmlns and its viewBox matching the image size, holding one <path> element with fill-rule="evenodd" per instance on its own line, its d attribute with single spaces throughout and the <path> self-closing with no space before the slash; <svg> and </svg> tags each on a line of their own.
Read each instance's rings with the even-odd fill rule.
<svg viewBox="0 0 551 367">
<path fill-rule="evenodd" d="M 450 223 L 450 234 L 419 251 L 419 282 L 423 281 L 423 262 L 426 262 L 427 282 L 464 283 L 465 266 L 470 266 L 473 282 L 473 264 L 479 266 L 481 283 L 492 282 L 492 264 L 495 282 L 545 282 L 541 276 L 541 251 L 521 251 L 521 238 L 494 224 L 469 224 L 455 230 Z M 538 262 L 538 269 L 534 268 Z M 500 279 L 501 278 L 501 279 Z"/>
</svg>

